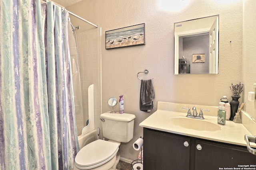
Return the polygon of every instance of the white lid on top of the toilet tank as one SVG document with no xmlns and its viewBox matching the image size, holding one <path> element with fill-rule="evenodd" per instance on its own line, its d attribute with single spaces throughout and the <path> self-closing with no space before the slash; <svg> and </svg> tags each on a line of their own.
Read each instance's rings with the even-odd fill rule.
<svg viewBox="0 0 256 170">
<path fill-rule="evenodd" d="M 102 113 L 100 115 L 101 118 L 108 119 L 108 120 L 114 120 L 114 121 L 132 121 L 135 119 L 135 115 L 129 114 L 129 113 L 110 113 L 110 111 L 106 113 Z"/>
</svg>

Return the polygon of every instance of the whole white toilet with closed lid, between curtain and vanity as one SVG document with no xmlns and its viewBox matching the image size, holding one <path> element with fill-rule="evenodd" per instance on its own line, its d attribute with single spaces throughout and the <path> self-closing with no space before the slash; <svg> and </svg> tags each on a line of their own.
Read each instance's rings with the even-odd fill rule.
<svg viewBox="0 0 256 170">
<path fill-rule="evenodd" d="M 102 113 L 103 137 L 84 146 L 76 154 L 74 170 L 116 170 L 121 143 L 133 138 L 135 115 L 128 113 Z"/>
</svg>

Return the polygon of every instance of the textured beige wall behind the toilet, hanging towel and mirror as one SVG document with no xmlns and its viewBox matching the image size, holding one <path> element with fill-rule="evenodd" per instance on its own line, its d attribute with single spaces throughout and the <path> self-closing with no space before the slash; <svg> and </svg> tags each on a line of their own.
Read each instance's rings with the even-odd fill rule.
<svg viewBox="0 0 256 170">
<path fill-rule="evenodd" d="M 140 78 L 154 78 L 155 106 L 158 101 L 218 106 L 223 95 L 231 100 L 232 82 L 250 79 L 242 80 L 243 2 L 222 1 L 184 0 L 180 3 L 188 4 L 179 11 L 170 10 L 178 7 L 168 0 L 83 0 L 67 8 L 102 27 L 102 112 L 111 109 L 108 98 L 119 99 L 118 96 L 124 94 L 125 112 L 136 115 L 134 139 L 121 145 L 122 156 L 137 158 L 138 151 L 132 148 L 132 143 L 143 136 L 139 123 L 157 109 L 151 113 L 140 111 L 138 72 L 148 69 L 149 74 L 140 74 Z M 160 2 L 167 3 L 164 7 L 169 10 Z M 174 22 L 216 14 L 220 15 L 219 74 L 174 75 Z M 74 17 L 71 21 L 73 25 L 80 25 L 80 31 L 94 28 Z M 146 45 L 105 49 L 105 31 L 140 23 L 145 23 Z M 115 110 L 118 111 L 117 106 Z"/>
</svg>

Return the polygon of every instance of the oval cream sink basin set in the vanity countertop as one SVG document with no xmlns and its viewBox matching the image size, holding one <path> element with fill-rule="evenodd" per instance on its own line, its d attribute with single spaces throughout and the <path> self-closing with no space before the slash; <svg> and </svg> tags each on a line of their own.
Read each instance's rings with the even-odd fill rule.
<svg viewBox="0 0 256 170">
<path fill-rule="evenodd" d="M 180 126 L 186 129 L 194 129 L 197 131 L 220 131 L 221 127 L 218 124 L 187 117 L 170 118 L 169 122 L 173 125 Z"/>
</svg>

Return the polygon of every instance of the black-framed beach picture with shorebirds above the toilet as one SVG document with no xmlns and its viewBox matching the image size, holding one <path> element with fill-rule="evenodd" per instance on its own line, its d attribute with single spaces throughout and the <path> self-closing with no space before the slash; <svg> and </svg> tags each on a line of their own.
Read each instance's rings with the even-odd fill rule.
<svg viewBox="0 0 256 170">
<path fill-rule="evenodd" d="M 145 23 L 106 31 L 106 49 L 145 45 Z"/>
</svg>

